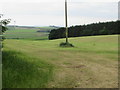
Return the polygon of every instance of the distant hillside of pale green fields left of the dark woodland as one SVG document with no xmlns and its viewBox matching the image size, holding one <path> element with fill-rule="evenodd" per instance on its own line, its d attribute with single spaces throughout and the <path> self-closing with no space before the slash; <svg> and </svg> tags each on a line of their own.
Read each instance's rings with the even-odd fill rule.
<svg viewBox="0 0 120 90">
<path fill-rule="evenodd" d="M 33 26 L 15 26 L 9 25 L 8 30 L 4 33 L 7 39 L 48 39 L 49 32 L 57 27 L 33 27 Z"/>
</svg>

